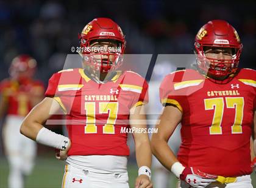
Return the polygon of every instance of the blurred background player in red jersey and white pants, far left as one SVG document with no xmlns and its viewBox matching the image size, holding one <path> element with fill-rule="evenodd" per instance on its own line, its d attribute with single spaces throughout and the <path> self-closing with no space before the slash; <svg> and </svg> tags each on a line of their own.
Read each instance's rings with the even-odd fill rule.
<svg viewBox="0 0 256 188">
<path fill-rule="evenodd" d="M 43 99 L 44 87 L 32 78 L 37 62 L 28 55 L 20 55 L 10 65 L 10 78 L 0 82 L 0 118 L 4 118 L 2 137 L 9 161 L 9 187 L 24 187 L 24 176 L 34 166 L 36 144 L 21 135 L 24 116 Z"/>
</svg>

